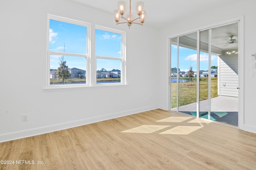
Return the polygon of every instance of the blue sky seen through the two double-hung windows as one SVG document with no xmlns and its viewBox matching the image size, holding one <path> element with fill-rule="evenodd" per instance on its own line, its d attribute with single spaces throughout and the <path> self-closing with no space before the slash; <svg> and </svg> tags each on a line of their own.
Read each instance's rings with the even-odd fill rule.
<svg viewBox="0 0 256 170">
<path fill-rule="evenodd" d="M 108 57 L 121 57 L 121 35 L 95 30 L 95 55 Z M 50 20 L 49 50 L 68 53 L 86 54 L 86 27 L 65 22 Z M 50 69 L 59 67 L 60 55 L 50 56 Z M 86 70 L 84 57 L 64 56 L 69 68 Z M 97 59 L 97 70 L 102 68 L 107 71 L 121 70 L 121 62 L 112 59 Z"/>
</svg>

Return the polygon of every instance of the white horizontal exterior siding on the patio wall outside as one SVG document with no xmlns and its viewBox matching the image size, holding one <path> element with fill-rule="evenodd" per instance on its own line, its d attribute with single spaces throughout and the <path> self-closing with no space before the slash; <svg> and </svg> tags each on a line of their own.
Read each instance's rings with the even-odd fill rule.
<svg viewBox="0 0 256 170">
<path fill-rule="evenodd" d="M 221 55 L 218 66 L 218 95 L 238 97 L 238 55 Z"/>
</svg>

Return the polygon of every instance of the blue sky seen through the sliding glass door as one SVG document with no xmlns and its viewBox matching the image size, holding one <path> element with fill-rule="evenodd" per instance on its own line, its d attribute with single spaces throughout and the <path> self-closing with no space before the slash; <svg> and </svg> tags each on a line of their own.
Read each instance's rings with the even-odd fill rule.
<svg viewBox="0 0 256 170">
<path fill-rule="evenodd" d="M 172 65 L 171 67 L 177 68 L 177 45 L 172 45 Z M 179 50 L 179 68 L 180 71 L 188 71 L 190 69 L 190 65 L 192 66 L 192 70 L 196 71 L 197 69 L 197 52 L 194 49 L 189 49 L 185 47 L 180 47 Z M 218 65 L 218 56 L 212 55 L 211 57 L 211 65 Z M 200 70 L 208 70 L 208 53 L 204 53 L 200 51 Z"/>
</svg>

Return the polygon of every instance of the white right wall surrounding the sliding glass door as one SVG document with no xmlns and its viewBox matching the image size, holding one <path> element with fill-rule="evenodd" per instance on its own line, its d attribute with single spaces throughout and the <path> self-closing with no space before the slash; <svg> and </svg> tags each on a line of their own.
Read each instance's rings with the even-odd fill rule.
<svg viewBox="0 0 256 170">
<path fill-rule="evenodd" d="M 250 72 L 255 72 L 255 70 L 250 69 L 250 63 L 252 63 L 251 55 L 256 53 L 255 0 L 243 0 L 214 10 L 209 8 L 207 13 L 200 15 L 191 14 L 187 18 L 182 18 L 178 22 L 170 23 L 170 25 L 160 29 L 160 59 L 158 61 L 159 65 L 165 67 L 160 67 L 159 71 L 165 74 L 162 74 L 162 77 L 159 78 L 161 86 L 159 88 L 161 89 L 159 91 L 159 105 L 165 106 L 165 109 L 168 109 L 168 37 L 178 36 L 241 17 L 244 17 L 244 53 L 242 53 L 244 58 L 244 75 L 239 75 L 244 77 L 244 88 L 240 89 L 243 94 L 243 96 L 240 96 L 240 99 L 242 99 L 240 102 L 244 102 L 244 111 L 242 111 L 244 113 L 244 123 L 242 123 L 241 127 L 246 131 L 256 133 L 256 114 L 254 108 L 256 77 L 250 77 Z"/>
</svg>

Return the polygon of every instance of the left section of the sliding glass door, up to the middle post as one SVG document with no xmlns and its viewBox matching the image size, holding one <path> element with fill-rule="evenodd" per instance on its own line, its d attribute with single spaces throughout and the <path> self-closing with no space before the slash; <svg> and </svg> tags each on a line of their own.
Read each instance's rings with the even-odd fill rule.
<svg viewBox="0 0 256 170">
<path fill-rule="evenodd" d="M 171 39 L 171 109 L 196 116 L 197 32 Z M 188 45 L 189 43 L 189 45 Z"/>
</svg>

